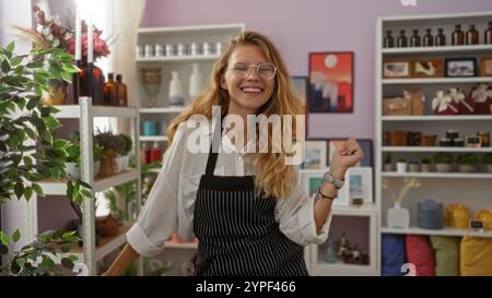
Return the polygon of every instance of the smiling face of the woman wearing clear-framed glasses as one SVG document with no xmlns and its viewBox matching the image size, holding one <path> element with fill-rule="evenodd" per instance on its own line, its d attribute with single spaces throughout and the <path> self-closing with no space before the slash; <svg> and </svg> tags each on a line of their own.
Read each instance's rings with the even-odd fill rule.
<svg viewBox="0 0 492 298">
<path fill-rule="evenodd" d="M 258 64 L 261 64 L 259 72 Z M 221 80 L 221 87 L 229 92 L 230 114 L 255 115 L 268 102 L 276 82 L 274 67 L 273 78 L 268 75 L 272 67 L 258 46 L 241 45 L 234 49 Z"/>
</svg>

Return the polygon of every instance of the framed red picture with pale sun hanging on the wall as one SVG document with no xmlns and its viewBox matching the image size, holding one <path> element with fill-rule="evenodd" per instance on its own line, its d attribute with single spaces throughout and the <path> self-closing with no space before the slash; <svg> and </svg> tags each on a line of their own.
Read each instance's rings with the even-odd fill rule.
<svg viewBox="0 0 492 298">
<path fill-rule="evenodd" d="M 353 52 L 309 53 L 307 112 L 353 112 Z"/>
</svg>

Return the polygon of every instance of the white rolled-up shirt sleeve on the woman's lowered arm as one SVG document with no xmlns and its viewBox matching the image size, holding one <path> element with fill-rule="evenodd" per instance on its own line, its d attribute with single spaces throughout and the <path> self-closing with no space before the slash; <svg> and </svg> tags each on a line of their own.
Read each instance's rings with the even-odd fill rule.
<svg viewBox="0 0 492 298">
<path fill-rule="evenodd" d="M 179 172 L 186 151 L 186 126 L 176 130 L 163 157 L 163 166 L 137 223 L 128 230 L 128 243 L 141 255 L 154 257 L 164 249 L 177 227 Z"/>
</svg>

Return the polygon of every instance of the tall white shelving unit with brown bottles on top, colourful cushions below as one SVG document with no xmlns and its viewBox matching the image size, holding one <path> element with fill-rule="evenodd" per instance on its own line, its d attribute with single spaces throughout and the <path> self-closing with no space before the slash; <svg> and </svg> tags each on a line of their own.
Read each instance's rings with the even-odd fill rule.
<svg viewBox="0 0 492 298">
<path fill-rule="evenodd" d="M 476 83 L 492 83 L 492 78 L 432 78 L 432 79 L 383 79 L 382 65 L 384 59 L 421 59 L 421 58 L 465 58 L 465 57 L 484 57 L 492 52 L 492 45 L 473 46 L 452 46 L 450 34 L 456 24 L 468 26 L 475 24 L 480 33 L 487 28 L 487 23 L 492 20 L 492 12 L 460 13 L 460 14 L 436 14 L 436 15 L 412 15 L 412 16 L 389 16 L 379 17 L 376 24 L 376 115 L 375 115 L 375 194 L 377 210 L 380 212 L 378 217 L 378 230 L 383 234 L 400 235 L 440 235 L 462 237 L 470 235 L 475 237 L 492 237 L 490 231 L 473 231 L 469 229 L 455 229 L 446 227 L 440 230 L 429 230 L 419 228 L 417 225 L 417 204 L 426 198 L 441 202 L 444 205 L 452 203 L 462 203 L 469 206 L 471 213 L 482 208 L 492 208 L 492 202 L 489 200 L 492 193 L 492 174 L 488 172 L 394 172 L 383 171 L 383 160 L 386 153 L 394 154 L 393 159 L 406 157 L 407 159 L 431 157 L 437 152 L 449 152 L 455 156 L 464 153 L 483 155 L 492 152 L 492 147 L 469 148 L 469 147 L 395 147 L 383 145 L 383 132 L 386 130 L 412 130 L 422 131 L 429 134 L 438 134 L 443 138 L 447 129 L 454 129 L 460 132 L 460 136 L 475 134 L 479 130 L 492 130 L 491 115 L 457 115 L 457 116 L 383 116 L 383 97 L 402 94 L 407 87 L 420 87 L 426 98 L 426 114 L 429 114 L 431 98 L 434 97 L 437 90 L 447 90 L 452 86 L 464 88 L 467 94 Z M 425 28 L 432 28 L 433 34 L 436 29 L 444 28 L 447 45 L 444 47 L 418 47 L 418 48 L 383 48 L 383 38 L 387 29 L 398 32 L 406 29 L 419 29 L 420 33 Z M 483 35 L 480 35 L 480 43 L 483 43 Z M 478 59 L 478 61 L 480 61 Z M 479 68 L 479 65 L 478 65 Z M 403 207 L 410 211 L 411 227 L 407 229 L 389 228 L 386 226 L 386 212 L 393 206 L 393 200 L 389 194 L 383 190 L 383 179 L 395 191 L 401 187 L 403 178 L 415 177 L 422 181 L 422 187 L 412 190 L 403 201 Z M 452 179 L 452 180 L 448 180 Z M 470 216 L 472 215 L 470 214 Z M 380 238 L 378 237 L 377 271 L 380 272 Z"/>
</svg>

